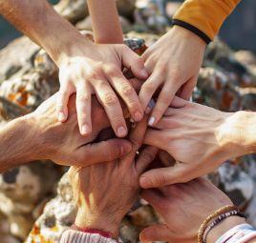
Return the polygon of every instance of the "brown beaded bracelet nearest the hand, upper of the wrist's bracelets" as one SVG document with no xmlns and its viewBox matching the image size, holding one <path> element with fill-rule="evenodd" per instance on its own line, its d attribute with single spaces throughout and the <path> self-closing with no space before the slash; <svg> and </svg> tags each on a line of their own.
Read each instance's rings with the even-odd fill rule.
<svg viewBox="0 0 256 243">
<path fill-rule="evenodd" d="M 237 211 L 237 208 L 234 205 L 226 205 L 223 208 L 217 210 L 216 212 L 210 214 L 209 216 L 207 216 L 204 221 L 203 224 L 201 225 L 199 232 L 198 232 L 198 243 L 203 243 L 203 233 L 205 231 L 205 228 L 207 227 L 207 224 L 214 219 L 215 217 L 219 216 L 222 213 L 227 213 L 230 211 Z"/>
</svg>

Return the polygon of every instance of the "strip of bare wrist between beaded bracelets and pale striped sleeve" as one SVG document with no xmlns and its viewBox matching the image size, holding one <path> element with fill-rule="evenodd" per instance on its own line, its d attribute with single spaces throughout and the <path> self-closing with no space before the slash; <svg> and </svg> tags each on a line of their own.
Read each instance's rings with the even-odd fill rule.
<svg viewBox="0 0 256 243">
<path fill-rule="evenodd" d="M 215 243 L 224 233 L 228 232 L 233 227 L 244 223 L 245 219 L 238 216 L 231 216 L 224 219 L 222 223 L 209 232 L 206 239 L 207 243 Z"/>
</svg>

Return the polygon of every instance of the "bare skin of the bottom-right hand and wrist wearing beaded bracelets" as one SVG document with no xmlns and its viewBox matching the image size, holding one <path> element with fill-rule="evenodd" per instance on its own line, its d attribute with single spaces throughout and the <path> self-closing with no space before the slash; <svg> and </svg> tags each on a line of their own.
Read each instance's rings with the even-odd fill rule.
<svg viewBox="0 0 256 243">
<path fill-rule="evenodd" d="M 223 192 L 203 178 L 159 190 L 145 190 L 142 197 L 164 220 L 164 224 L 143 230 L 139 235 L 142 242 L 197 242 L 197 234 L 203 220 L 216 210 L 232 205 Z M 243 223 L 245 219 L 237 216 L 225 219 L 208 234 L 207 243 L 216 242 L 222 234 Z"/>
</svg>

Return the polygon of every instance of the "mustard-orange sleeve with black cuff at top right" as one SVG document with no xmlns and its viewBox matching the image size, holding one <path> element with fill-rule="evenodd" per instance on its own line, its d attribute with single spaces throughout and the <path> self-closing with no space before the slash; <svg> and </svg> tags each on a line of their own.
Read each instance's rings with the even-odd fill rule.
<svg viewBox="0 0 256 243">
<path fill-rule="evenodd" d="M 186 0 L 173 17 L 174 25 L 187 25 L 204 34 L 209 42 L 221 29 L 225 18 L 241 0 Z M 183 26 L 186 28 L 185 26 Z M 186 28 L 189 29 L 189 28 Z M 193 30 L 192 30 L 193 31 Z M 203 36 L 201 36 L 203 37 Z"/>
</svg>

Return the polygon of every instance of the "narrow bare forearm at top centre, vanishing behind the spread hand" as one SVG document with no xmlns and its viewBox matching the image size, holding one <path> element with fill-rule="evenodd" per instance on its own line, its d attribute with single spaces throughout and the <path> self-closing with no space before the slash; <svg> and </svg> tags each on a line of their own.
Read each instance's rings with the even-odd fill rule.
<svg viewBox="0 0 256 243">
<path fill-rule="evenodd" d="M 96 43 L 123 42 L 115 0 L 88 0 Z"/>
</svg>

